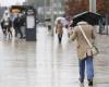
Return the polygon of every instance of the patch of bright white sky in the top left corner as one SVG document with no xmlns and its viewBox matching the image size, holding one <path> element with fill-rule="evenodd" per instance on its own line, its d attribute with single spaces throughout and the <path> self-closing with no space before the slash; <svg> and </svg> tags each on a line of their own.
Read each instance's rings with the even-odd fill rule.
<svg viewBox="0 0 109 87">
<path fill-rule="evenodd" d="M 22 3 L 24 2 L 25 0 L 0 0 L 0 5 L 12 5 L 12 4 L 15 4 L 15 3 Z"/>
</svg>

